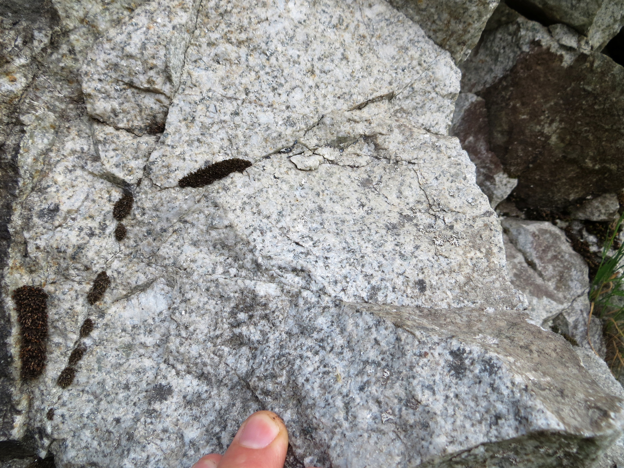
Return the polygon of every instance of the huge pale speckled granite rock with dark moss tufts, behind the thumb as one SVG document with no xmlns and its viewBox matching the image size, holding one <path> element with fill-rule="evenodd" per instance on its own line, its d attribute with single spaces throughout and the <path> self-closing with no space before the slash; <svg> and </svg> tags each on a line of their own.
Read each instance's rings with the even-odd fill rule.
<svg viewBox="0 0 624 468">
<path fill-rule="evenodd" d="M 49 293 L 50 336 L 42 377 L 12 389 L 14 437 L 36 434 L 61 467 L 190 466 L 265 408 L 308 466 L 589 466 L 622 401 L 521 311 L 499 221 L 446 136 L 448 52 L 384 2 L 204 1 L 178 86 L 158 55 L 190 21 L 188 4 L 158 15 L 176 4 L 145 2 L 94 46 L 59 39 L 89 56 L 86 106 L 35 87 L 24 108 L 2 296 L 14 356 L 17 286 Z M 142 51 L 137 24 L 165 49 Z M 124 50 L 170 94 L 149 91 L 170 103 L 158 141 L 138 135 L 163 114 L 115 65 Z M 143 89 L 118 90 L 123 74 Z M 253 165 L 178 187 L 233 157 Z M 111 285 L 90 306 L 100 271 Z"/>
</svg>

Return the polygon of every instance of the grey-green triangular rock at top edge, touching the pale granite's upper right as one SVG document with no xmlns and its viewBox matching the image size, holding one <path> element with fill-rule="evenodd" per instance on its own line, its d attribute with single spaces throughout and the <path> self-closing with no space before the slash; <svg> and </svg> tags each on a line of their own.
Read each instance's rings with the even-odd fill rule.
<svg viewBox="0 0 624 468">
<path fill-rule="evenodd" d="M 419 24 L 427 36 L 451 52 L 457 62 L 469 56 L 499 0 L 390 0 L 392 6 Z"/>
</svg>

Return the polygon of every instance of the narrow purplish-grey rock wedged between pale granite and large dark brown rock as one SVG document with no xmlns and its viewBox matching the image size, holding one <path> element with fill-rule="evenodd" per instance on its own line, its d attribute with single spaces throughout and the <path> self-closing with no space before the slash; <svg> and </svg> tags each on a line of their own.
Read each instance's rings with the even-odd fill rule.
<svg viewBox="0 0 624 468">
<path fill-rule="evenodd" d="M 510 178 L 494 152 L 490 151 L 489 122 L 485 100 L 471 93 L 461 93 L 455 103 L 449 133 L 459 139 L 477 169 L 477 184 L 490 200 L 492 208 L 505 200 L 518 183 Z"/>
</svg>

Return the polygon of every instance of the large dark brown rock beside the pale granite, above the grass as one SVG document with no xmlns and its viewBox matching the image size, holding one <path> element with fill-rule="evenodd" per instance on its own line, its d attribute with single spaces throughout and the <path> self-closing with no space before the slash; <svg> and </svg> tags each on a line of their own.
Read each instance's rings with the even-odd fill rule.
<svg viewBox="0 0 624 468">
<path fill-rule="evenodd" d="M 563 210 L 623 187 L 624 67 L 583 36 L 518 17 L 484 32 L 462 68 L 462 91 L 485 100 L 490 150 L 518 178 L 519 207 Z"/>
</svg>

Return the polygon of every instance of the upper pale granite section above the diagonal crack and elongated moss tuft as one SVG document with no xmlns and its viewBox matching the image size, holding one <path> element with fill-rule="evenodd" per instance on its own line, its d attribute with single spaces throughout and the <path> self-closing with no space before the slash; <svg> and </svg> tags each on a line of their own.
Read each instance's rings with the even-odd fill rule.
<svg viewBox="0 0 624 468">
<path fill-rule="evenodd" d="M 205 163 L 255 162 L 291 147 L 323 115 L 369 103 L 446 135 L 460 79 L 416 24 L 370 1 L 205 1 L 184 74 L 150 158 L 159 187 Z"/>
</svg>

